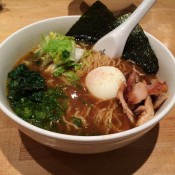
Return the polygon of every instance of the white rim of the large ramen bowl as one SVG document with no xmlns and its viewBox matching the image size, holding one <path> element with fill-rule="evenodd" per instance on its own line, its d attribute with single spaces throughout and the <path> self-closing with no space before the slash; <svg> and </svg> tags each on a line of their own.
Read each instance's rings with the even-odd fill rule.
<svg viewBox="0 0 175 175">
<path fill-rule="evenodd" d="M 79 15 L 72 15 L 72 16 L 59 16 L 59 17 L 53 17 L 53 18 L 47 18 L 44 20 L 40 20 L 34 23 L 31 23 L 19 30 L 17 30 L 16 32 L 14 32 L 13 34 L 11 34 L 10 36 L 8 36 L 1 44 L 0 44 L 0 49 L 2 47 L 3 44 L 5 44 L 6 42 L 8 42 L 8 40 L 10 40 L 13 36 L 15 36 L 16 34 L 20 33 L 21 31 L 30 28 L 34 25 L 39 25 L 40 23 L 45 23 L 47 21 L 50 20 L 60 20 L 60 19 L 66 19 L 66 18 L 72 18 L 75 20 L 78 20 L 80 16 Z M 163 46 L 163 48 L 166 50 L 167 54 L 169 55 L 169 57 L 172 59 L 172 61 L 174 62 L 175 65 L 175 59 L 174 56 L 172 55 L 172 53 L 170 52 L 170 50 L 163 45 L 162 42 L 160 42 L 157 38 L 155 38 L 154 36 L 152 36 L 151 34 L 145 32 L 145 34 L 148 36 L 148 38 L 151 38 L 153 40 L 155 40 L 158 45 Z M 67 135 L 67 134 L 61 134 L 61 133 L 55 133 L 52 131 L 48 131 L 39 127 L 36 127 L 26 121 L 24 121 L 23 119 L 21 119 L 20 117 L 18 117 L 15 113 L 13 113 L 12 111 L 10 111 L 9 109 L 6 108 L 6 106 L 2 103 L 1 99 L 0 99 L 0 109 L 9 117 L 11 118 L 14 122 L 16 122 L 18 125 L 21 125 L 24 128 L 27 128 L 28 130 L 31 130 L 37 134 L 43 135 L 43 136 L 47 136 L 47 137 L 51 137 L 54 139 L 58 139 L 61 141 L 72 141 L 72 142 L 82 142 L 82 143 L 87 143 L 87 142 L 91 142 L 91 143 L 96 143 L 96 142 L 110 142 L 112 140 L 122 140 L 123 138 L 127 138 L 130 137 L 131 135 L 135 135 L 141 131 L 144 131 L 148 128 L 152 128 L 153 126 L 155 126 L 162 118 L 164 118 L 166 116 L 166 114 L 171 110 L 171 108 L 173 107 L 175 103 L 175 93 L 173 94 L 172 100 L 169 102 L 169 104 L 167 105 L 167 107 L 165 108 L 164 111 L 162 111 L 158 116 L 154 117 L 153 119 L 151 119 L 150 121 L 142 124 L 141 126 L 137 126 L 135 128 L 129 129 L 127 131 L 122 131 L 119 133 L 114 133 L 114 134 L 108 134 L 108 135 L 99 135 L 99 136 L 77 136 L 77 135 Z"/>
</svg>

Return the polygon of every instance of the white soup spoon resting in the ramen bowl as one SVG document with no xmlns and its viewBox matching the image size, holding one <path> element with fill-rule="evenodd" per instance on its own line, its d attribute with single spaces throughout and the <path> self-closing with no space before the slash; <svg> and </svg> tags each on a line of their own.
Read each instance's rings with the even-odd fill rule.
<svg viewBox="0 0 175 175">
<path fill-rule="evenodd" d="M 155 2 L 156 0 L 144 0 L 125 22 L 103 36 L 94 45 L 93 49 L 104 51 L 110 58 L 120 57 L 123 53 L 129 34 Z"/>
</svg>

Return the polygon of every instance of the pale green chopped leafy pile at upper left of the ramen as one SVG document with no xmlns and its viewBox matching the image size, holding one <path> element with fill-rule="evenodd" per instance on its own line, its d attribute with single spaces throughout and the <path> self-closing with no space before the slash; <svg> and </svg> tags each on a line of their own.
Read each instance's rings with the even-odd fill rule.
<svg viewBox="0 0 175 175">
<path fill-rule="evenodd" d="M 74 37 L 51 32 L 48 36 L 42 35 L 42 42 L 34 49 L 35 58 L 41 61 L 42 66 L 53 64 L 55 68 L 51 73 L 54 76 L 60 77 L 65 73 L 70 80 L 72 78 L 66 72 L 80 68 L 75 58 L 75 47 Z"/>
</svg>

